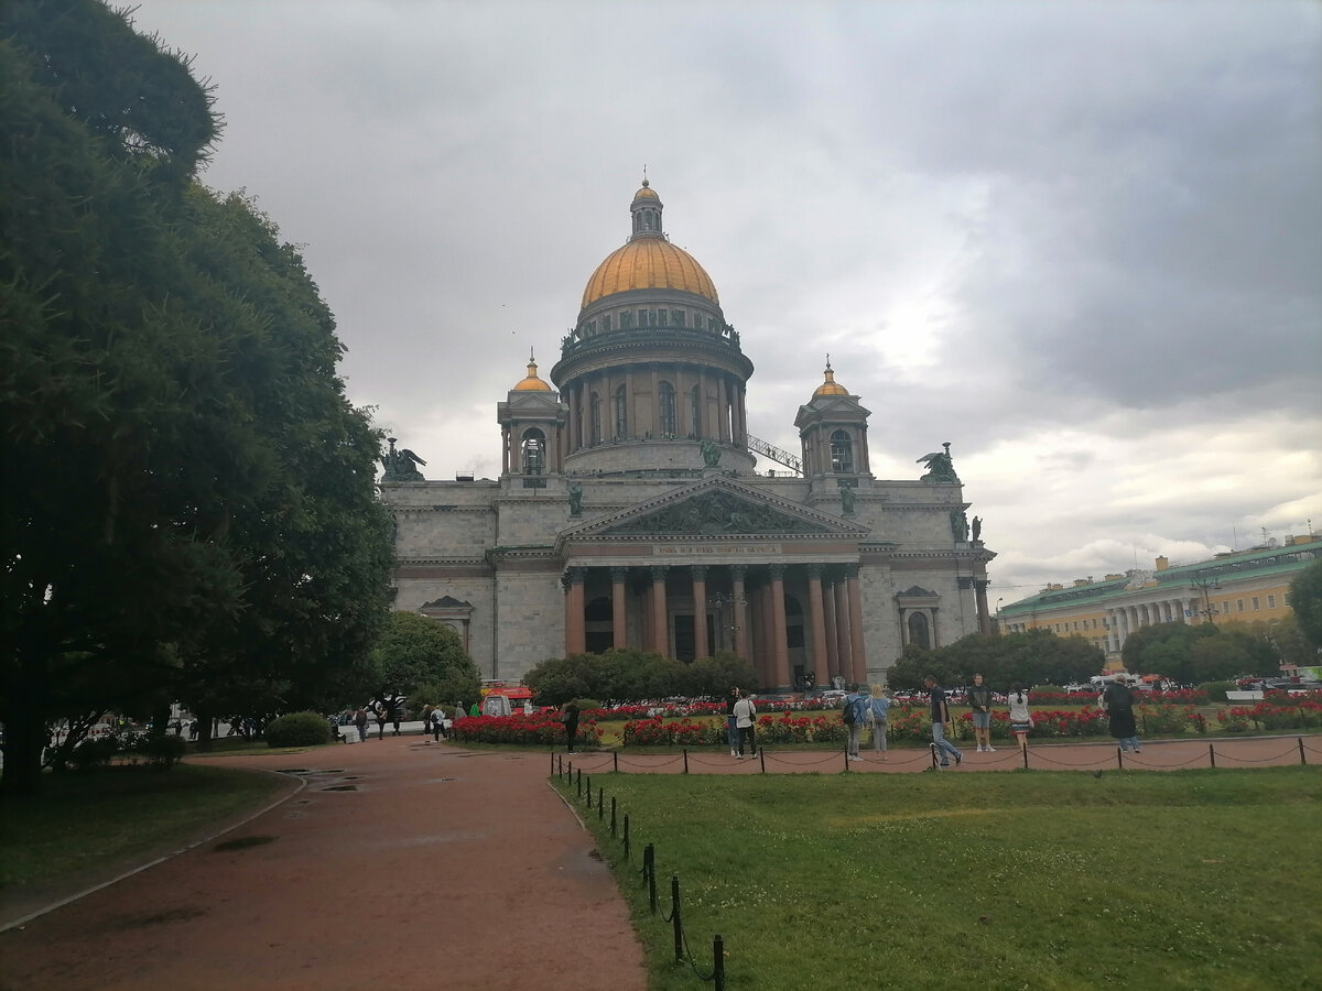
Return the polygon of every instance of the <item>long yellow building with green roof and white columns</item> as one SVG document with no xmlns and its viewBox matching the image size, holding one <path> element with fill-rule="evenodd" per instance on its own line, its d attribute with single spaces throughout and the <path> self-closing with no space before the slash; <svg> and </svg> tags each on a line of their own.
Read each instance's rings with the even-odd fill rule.
<svg viewBox="0 0 1322 991">
<path fill-rule="evenodd" d="M 1151 571 L 1076 579 L 1048 585 L 1035 596 L 997 610 L 1002 633 L 1048 629 L 1088 638 L 1120 665 L 1125 637 L 1158 622 L 1253 622 L 1280 620 L 1290 608 L 1285 593 L 1303 568 L 1322 555 L 1322 539 L 1288 536 L 1282 544 L 1218 554 L 1171 567 L 1157 558 Z"/>
</svg>

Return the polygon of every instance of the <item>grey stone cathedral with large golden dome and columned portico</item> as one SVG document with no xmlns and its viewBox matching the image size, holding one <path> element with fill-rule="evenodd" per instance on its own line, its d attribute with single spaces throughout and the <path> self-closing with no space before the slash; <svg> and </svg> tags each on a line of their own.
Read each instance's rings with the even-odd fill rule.
<svg viewBox="0 0 1322 991">
<path fill-rule="evenodd" d="M 829 362 L 804 383 L 797 453 L 750 435 L 752 361 L 661 211 L 644 180 L 550 382 L 530 359 L 496 404 L 498 480 L 424 480 L 391 441 L 394 606 L 453 626 L 502 679 L 629 646 L 731 650 L 764 688 L 875 682 L 907 643 L 989 632 L 994 554 L 949 444 L 921 477 L 874 478 L 870 411 Z"/>
</svg>

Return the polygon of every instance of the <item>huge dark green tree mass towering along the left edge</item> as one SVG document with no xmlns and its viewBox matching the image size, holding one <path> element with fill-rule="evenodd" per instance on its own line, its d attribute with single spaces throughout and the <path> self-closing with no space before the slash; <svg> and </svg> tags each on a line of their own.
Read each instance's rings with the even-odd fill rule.
<svg viewBox="0 0 1322 991">
<path fill-rule="evenodd" d="M 95 0 L 3 18 L 0 459 L 22 485 L 0 785 L 21 793 L 58 715 L 319 698 L 365 666 L 391 547 L 379 439 L 301 259 L 193 181 L 218 120 L 186 59 Z"/>
</svg>

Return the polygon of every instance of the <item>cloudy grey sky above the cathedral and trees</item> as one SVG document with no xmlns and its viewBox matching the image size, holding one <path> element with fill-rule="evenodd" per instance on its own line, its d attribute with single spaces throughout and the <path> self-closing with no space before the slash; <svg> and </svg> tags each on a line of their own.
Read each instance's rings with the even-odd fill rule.
<svg viewBox="0 0 1322 991">
<path fill-rule="evenodd" d="M 135 3 L 430 478 L 500 473 L 646 165 L 750 432 L 829 351 L 875 474 L 952 443 L 993 603 L 1322 529 L 1317 3 Z"/>
</svg>

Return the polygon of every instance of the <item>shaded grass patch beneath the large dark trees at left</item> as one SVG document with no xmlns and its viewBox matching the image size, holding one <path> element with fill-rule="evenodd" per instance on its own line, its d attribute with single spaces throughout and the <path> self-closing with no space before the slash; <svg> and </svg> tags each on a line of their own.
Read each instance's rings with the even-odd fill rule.
<svg viewBox="0 0 1322 991">
<path fill-rule="evenodd" d="M 283 786 L 271 774 L 189 764 L 48 774 L 42 794 L 0 806 L 0 891 L 188 842 Z"/>
</svg>

